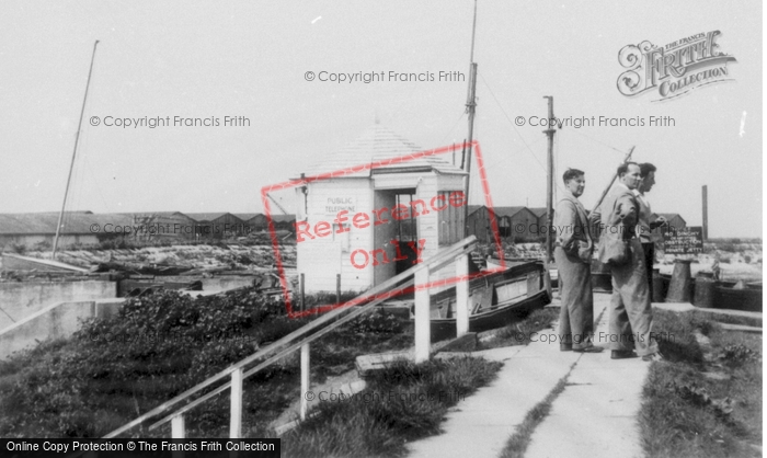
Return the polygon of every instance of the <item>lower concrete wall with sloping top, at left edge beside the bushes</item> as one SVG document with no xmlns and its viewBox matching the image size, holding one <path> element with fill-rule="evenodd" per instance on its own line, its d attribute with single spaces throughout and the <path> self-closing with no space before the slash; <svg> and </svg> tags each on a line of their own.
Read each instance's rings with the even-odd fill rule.
<svg viewBox="0 0 767 458">
<path fill-rule="evenodd" d="M 0 359 L 34 346 L 37 342 L 70 336 L 80 329 L 80 321 L 92 317 L 112 317 L 124 301 L 125 299 L 83 300 L 46 307 L 0 330 Z"/>
</svg>

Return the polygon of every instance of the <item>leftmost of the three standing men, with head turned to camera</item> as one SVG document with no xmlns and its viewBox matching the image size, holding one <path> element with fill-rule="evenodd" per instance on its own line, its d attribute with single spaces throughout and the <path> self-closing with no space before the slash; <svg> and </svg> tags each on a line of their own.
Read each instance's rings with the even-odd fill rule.
<svg viewBox="0 0 767 458">
<path fill-rule="evenodd" d="M 588 230 L 586 209 L 577 199 L 586 186 L 584 172 L 568 169 L 562 175 L 565 195 L 557 204 L 554 260 L 559 271 L 562 304 L 559 312 L 560 350 L 598 353 L 594 346 L 594 296 L 592 293 L 592 253 L 594 242 Z"/>
</svg>

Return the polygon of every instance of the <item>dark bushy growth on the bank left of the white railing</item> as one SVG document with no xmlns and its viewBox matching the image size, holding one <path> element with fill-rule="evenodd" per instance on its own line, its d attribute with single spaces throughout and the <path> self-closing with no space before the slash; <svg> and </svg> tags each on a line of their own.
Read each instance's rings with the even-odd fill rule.
<svg viewBox="0 0 767 458">
<path fill-rule="evenodd" d="M 283 325 L 260 325 L 272 322 Z M 173 290 L 131 299 L 112 319 L 85 320 L 71 339 L 0 362 L 0 436 L 102 436 L 305 322 L 288 320 L 282 302 L 251 288 L 197 300 Z M 209 409 L 194 411 L 187 424 Z"/>
</svg>

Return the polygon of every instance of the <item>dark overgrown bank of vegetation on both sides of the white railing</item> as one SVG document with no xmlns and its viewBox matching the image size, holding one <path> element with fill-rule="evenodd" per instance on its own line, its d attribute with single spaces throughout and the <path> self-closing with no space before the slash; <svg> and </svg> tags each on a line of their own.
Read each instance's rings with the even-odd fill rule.
<svg viewBox="0 0 767 458">
<path fill-rule="evenodd" d="M 284 304 L 252 289 L 196 301 L 176 296 L 135 299 L 125 317 L 93 320 L 72 337 L 0 362 L 0 436 L 103 436 L 307 321 L 288 319 Z M 93 335 L 172 339 L 123 343 Z M 312 380 L 354 368 L 359 354 L 412 342 L 409 322 L 368 313 L 312 344 Z M 268 424 L 299 398 L 298 380 L 296 353 L 244 381 L 245 435 L 268 434 Z M 188 437 L 226 437 L 228 424 L 226 393 L 186 415 Z M 170 426 L 127 434 L 170 437 Z"/>
</svg>

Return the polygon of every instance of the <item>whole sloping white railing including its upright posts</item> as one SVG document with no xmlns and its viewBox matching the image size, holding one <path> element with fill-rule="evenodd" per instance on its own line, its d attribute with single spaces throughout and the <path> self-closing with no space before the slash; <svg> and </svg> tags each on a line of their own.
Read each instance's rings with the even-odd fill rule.
<svg viewBox="0 0 767 458">
<path fill-rule="evenodd" d="M 424 260 L 420 264 L 414 265 L 401 274 L 389 278 L 382 284 L 371 288 L 363 295 L 345 304 L 346 307 L 334 309 L 305 327 L 291 332 L 290 334 L 279 339 L 271 345 L 255 352 L 251 356 L 229 366 L 220 373 L 209 377 L 205 381 L 190 388 L 175 398 L 167 401 L 136 420 L 121 426 L 111 432 L 104 438 L 116 437 L 117 435 L 131 430 L 135 426 L 146 423 L 148 420 L 159 416 L 168 411 L 172 412 L 161 420 L 149 426 L 149 430 L 154 430 L 160 425 L 171 422 L 171 435 L 173 438 L 184 438 L 186 435 L 184 425 L 184 414 L 210 398 L 231 388 L 230 401 L 230 424 L 229 436 L 231 438 L 240 438 L 242 435 L 242 381 L 257 373 L 261 369 L 274 364 L 281 358 L 300 348 L 301 352 L 301 405 L 300 419 L 305 420 L 308 410 L 306 396 L 309 391 L 310 371 L 309 371 L 309 344 L 321 336 L 328 334 L 340 325 L 355 319 L 356 317 L 369 311 L 378 304 L 413 288 L 415 294 L 415 363 L 421 363 L 430 358 L 431 348 L 431 325 L 430 325 L 430 272 L 435 272 L 445 265 L 456 262 L 456 277 L 453 280 L 445 282 L 456 283 L 456 331 L 457 335 L 461 336 L 469 331 L 469 255 L 468 253 L 477 244 L 477 238 L 471 236 L 461 240 L 458 243 L 442 250 L 431 259 Z M 413 277 L 413 278 L 411 278 Z M 407 280 L 399 285 L 400 282 Z M 438 283 L 438 282 L 436 282 Z M 357 306 L 359 307 L 352 307 Z M 271 355 L 271 356 L 270 356 Z M 267 357 L 255 367 L 247 369 L 245 367 L 252 363 Z M 229 377 L 230 380 L 220 385 L 210 392 L 207 392 L 199 398 L 188 401 L 193 394 L 199 393 L 215 382 Z M 179 407 L 182 401 L 187 401 L 186 404 Z"/>
</svg>

